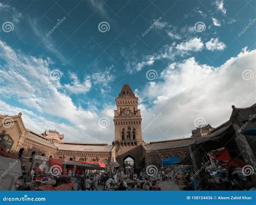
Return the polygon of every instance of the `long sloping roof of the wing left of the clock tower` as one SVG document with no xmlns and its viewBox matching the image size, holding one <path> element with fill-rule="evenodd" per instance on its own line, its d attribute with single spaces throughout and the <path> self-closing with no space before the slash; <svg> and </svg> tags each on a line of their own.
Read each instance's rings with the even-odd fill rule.
<svg viewBox="0 0 256 205">
<path fill-rule="evenodd" d="M 113 145 L 100 145 L 100 144 L 74 144 L 74 143 L 63 143 L 55 144 L 58 150 L 67 151 L 78 151 L 78 152 L 110 152 Z"/>
</svg>

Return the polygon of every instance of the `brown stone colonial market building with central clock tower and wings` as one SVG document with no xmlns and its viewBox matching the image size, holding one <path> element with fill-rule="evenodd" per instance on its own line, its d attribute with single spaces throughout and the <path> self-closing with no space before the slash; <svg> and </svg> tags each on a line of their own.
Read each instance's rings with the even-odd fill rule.
<svg viewBox="0 0 256 205">
<path fill-rule="evenodd" d="M 0 140 L 9 153 L 31 161 L 33 155 L 63 160 L 98 161 L 108 164 L 117 160 L 123 167 L 124 160 L 132 158 L 136 169 L 146 165 L 159 165 L 167 157 L 184 158 L 188 145 L 197 137 L 206 136 L 213 130 L 210 125 L 192 131 L 190 138 L 145 143 L 142 136 L 142 116 L 136 97 L 129 84 L 124 84 L 116 98 L 114 110 L 114 143 L 71 143 L 56 130 L 42 134 L 27 129 L 22 113 L 16 116 L 0 115 Z M 31 167 L 31 166 L 28 166 Z"/>
</svg>

